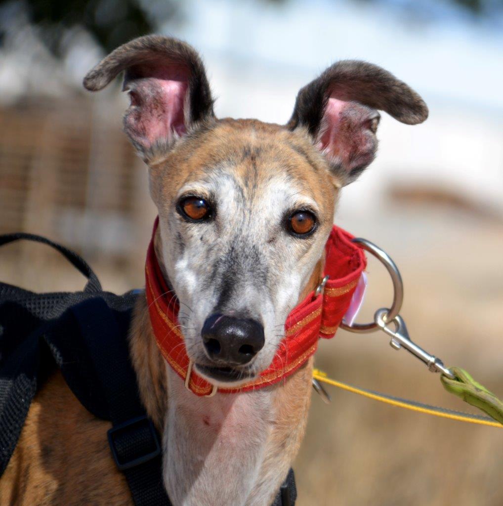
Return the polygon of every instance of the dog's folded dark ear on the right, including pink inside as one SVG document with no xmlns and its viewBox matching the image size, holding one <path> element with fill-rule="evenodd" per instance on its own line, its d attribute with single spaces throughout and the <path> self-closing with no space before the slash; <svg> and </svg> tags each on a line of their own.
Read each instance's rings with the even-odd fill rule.
<svg viewBox="0 0 503 506">
<path fill-rule="evenodd" d="M 423 122 L 423 99 L 390 72 L 362 61 L 341 61 L 301 89 L 287 127 L 305 128 L 343 185 L 374 159 L 380 114 Z"/>
</svg>

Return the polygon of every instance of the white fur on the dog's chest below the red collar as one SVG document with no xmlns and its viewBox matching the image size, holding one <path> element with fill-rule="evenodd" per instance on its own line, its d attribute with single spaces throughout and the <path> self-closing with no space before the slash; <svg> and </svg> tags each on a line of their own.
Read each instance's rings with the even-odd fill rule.
<svg viewBox="0 0 503 506">
<path fill-rule="evenodd" d="M 259 473 L 273 426 L 273 392 L 196 397 L 170 367 L 167 374 L 163 475 L 174 506 L 264 505 L 273 484 Z"/>
</svg>

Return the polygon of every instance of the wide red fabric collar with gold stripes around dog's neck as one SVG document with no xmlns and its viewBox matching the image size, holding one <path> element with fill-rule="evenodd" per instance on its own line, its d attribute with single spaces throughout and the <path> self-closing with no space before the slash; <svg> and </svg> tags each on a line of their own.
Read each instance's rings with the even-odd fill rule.
<svg viewBox="0 0 503 506">
<path fill-rule="evenodd" d="M 216 388 L 196 372 L 187 356 L 177 315 L 178 300 L 167 286 L 154 251 L 155 220 L 145 265 L 146 297 L 156 344 L 173 370 L 198 396 L 213 395 Z M 318 339 L 336 333 L 349 308 L 356 285 L 366 266 L 363 250 L 351 242 L 353 236 L 334 226 L 325 245 L 324 276 L 329 276 L 318 296 L 312 291 L 296 306 L 285 321 L 285 338 L 271 365 L 257 379 L 238 389 L 218 388 L 219 393 L 237 393 L 266 387 L 288 377 L 313 355 Z"/>
</svg>

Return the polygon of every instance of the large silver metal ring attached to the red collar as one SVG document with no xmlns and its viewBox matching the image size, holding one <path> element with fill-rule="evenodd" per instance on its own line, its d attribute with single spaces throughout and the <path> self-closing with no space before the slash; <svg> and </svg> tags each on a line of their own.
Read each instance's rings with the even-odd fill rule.
<svg viewBox="0 0 503 506">
<path fill-rule="evenodd" d="M 400 276 L 400 271 L 386 251 L 383 251 L 379 246 L 376 246 L 374 243 L 367 241 L 366 239 L 362 239 L 361 237 L 355 237 L 353 242 L 360 244 L 365 251 L 368 251 L 374 257 L 378 258 L 381 263 L 384 264 L 386 270 L 391 276 L 391 281 L 393 282 L 393 304 L 390 309 L 386 310 L 386 321 L 392 321 L 400 312 L 403 302 L 403 282 L 402 276 Z M 360 333 L 373 332 L 374 330 L 380 328 L 375 321 L 371 323 L 353 323 L 353 325 L 341 323 L 340 327 L 344 328 L 344 330 L 349 330 L 350 332 Z"/>
</svg>

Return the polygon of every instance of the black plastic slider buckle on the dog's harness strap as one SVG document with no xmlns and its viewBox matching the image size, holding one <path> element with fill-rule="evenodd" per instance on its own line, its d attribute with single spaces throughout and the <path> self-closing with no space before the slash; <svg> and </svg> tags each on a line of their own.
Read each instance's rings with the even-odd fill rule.
<svg viewBox="0 0 503 506">
<path fill-rule="evenodd" d="M 154 424 L 145 415 L 116 425 L 107 434 L 108 444 L 119 471 L 139 466 L 155 458 L 161 452 Z M 120 441 L 121 439 L 122 441 Z M 133 455 L 121 456 L 120 453 L 132 453 Z"/>
</svg>

